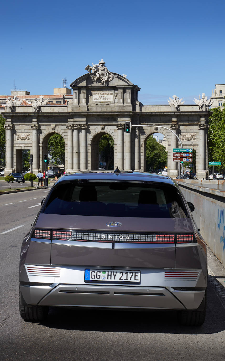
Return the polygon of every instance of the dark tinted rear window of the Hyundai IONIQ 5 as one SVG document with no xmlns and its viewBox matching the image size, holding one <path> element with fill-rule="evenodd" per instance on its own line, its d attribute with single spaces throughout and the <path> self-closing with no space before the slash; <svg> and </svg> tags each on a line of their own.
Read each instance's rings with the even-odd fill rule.
<svg viewBox="0 0 225 361">
<path fill-rule="evenodd" d="M 41 210 L 47 214 L 186 218 L 181 196 L 173 186 L 131 183 L 61 183 Z"/>
</svg>

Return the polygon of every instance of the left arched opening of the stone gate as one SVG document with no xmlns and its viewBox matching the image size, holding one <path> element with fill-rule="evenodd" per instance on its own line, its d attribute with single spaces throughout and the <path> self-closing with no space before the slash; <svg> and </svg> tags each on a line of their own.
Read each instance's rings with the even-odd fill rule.
<svg viewBox="0 0 225 361">
<path fill-rule="evenodd" d="M 60 134 L 49 133 L 43 138 L 41 170 L 45 167 L 45 154 L 48 155 L 48 169 L 65 169 L 65 142 Z"/>
</svg>

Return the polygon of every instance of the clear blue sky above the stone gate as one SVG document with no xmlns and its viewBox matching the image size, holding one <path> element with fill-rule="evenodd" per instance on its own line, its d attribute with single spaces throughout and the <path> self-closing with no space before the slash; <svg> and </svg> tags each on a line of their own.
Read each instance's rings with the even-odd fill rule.
<svg viewBox="0 0 225 361">
<path fill-rule="evenodd" d="M 4 9 L 3 9 L 4 7 Z M 0 94 L 52 94 L 103 57 L 137 84 L 143 104 L 194 104 L 225 83 L 225 1 L 4 2 Z"/>
</svg>

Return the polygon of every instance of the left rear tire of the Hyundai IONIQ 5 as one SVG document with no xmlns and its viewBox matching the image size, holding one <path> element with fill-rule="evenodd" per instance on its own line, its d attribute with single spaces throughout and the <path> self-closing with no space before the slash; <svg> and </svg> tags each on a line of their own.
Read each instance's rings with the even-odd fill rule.
<svg viewBox="0 0 225 361">
<path fill-rule="evenodd" d="M 44 306 L 23 306 L 23 296 L 19 288 L 19 313 L 25 321 L 44 321 L 48 317 L 49 307 Z"/>
</svg>

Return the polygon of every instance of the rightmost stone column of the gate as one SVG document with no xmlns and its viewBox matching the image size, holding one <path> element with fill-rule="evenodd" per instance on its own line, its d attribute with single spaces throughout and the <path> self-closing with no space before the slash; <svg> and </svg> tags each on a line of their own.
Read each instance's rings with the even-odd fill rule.
<svg viewBox="0 0 225 361">
<path fill-rule="evenodd" d="M 196 154 L 197 178 L 206 178 L 206 130 L 205 118 L 200 118 L 198 125 L 198 152 Z"/>
</svg>

